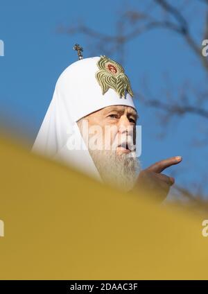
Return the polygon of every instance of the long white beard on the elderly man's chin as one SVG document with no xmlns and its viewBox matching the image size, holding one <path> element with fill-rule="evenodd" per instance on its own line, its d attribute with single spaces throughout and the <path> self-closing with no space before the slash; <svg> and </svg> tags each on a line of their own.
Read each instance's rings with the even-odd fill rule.
<svg viewBox="0 0 208 294">
<path fill-rule="evenodd" d="M 103 182 L 122 191 L 130 191 L 141 170 L 137 157 L 117 155 L 116 150 L 89 150 Z"/>
</svg>

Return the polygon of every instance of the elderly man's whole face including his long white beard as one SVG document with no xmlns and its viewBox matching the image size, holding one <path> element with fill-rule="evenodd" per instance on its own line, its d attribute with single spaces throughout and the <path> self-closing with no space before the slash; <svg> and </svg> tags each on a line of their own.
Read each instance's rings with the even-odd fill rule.
<svg viewBox="0 0 208 294">
<path fill-rule="evenodd" d="M 101 178 L 126 191 L 135 184 L 140 168 L 135 157 L 136 123 L 136 110 L 123 105 L 105 107 L 78 121 Z"/>
</svg>

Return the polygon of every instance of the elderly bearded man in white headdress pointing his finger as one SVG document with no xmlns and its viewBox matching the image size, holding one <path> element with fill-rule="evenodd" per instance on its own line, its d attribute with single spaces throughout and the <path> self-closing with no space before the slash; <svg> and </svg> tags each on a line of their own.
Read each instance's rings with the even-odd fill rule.
<svg viewBox="0 0 208 294">
<path fill-rule="evenodd" d="M 121 64 L 105 56 L 74 62 L 56 83 L 33 150 L 124 191 L 147 191 L 164 199 L 174 179 L 162 171 L 182 158 L 164 159 L 140 171 L 135 153 L 137 110 L 132 96 Z M 94 139 L 92 129 L 99 130 L 96 148 L 88 144 Z"/>
</svg>

